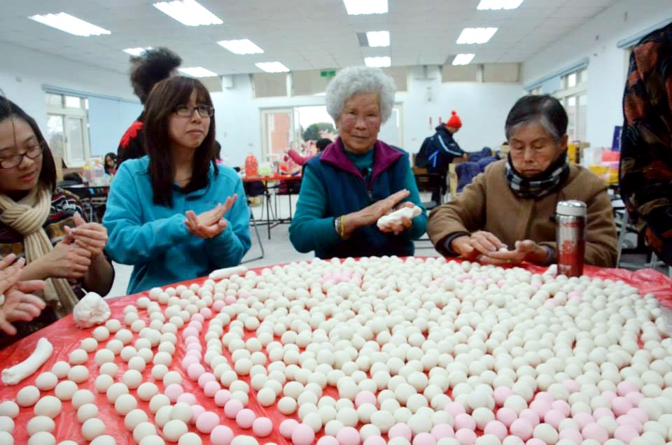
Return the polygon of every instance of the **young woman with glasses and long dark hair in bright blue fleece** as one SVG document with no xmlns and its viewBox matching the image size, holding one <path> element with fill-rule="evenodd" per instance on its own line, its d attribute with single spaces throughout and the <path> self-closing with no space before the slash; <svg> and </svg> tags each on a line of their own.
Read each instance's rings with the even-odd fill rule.
<svg viewBox="0 0 672 445">
<path fill-rule="evenodd" d="M 121 165 L 103 218 L 106 251 L 134 266 L 129 294 L 235 266 L 250 248 L 243 184 L 215 162 L 204 85 L 186 77 L 155 85 L 144 129 L 148 155 Z"/>
</svg>

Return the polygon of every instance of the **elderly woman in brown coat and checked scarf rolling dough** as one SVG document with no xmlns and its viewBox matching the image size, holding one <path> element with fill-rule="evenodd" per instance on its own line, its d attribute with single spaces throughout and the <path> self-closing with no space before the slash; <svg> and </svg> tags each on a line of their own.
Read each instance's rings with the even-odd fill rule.
<svg viewBox="0 0 672 445">
<path fill-rule="evenodd" d="M 567 113 L 550 96 L 522 97 L 507 116 L 507 160 L 490 164 L 429 217 L 435 248 L 486 264 L 556 260 L 556 204 L 587 205 L 585 262 L 613 267 L 617 236 L 604 181 L 567 160 Z"/>
</svg>

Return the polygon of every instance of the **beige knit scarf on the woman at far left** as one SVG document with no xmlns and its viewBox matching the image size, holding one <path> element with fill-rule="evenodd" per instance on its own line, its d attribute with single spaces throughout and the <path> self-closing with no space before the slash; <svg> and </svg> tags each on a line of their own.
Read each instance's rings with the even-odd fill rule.
<svg viewBox="0 0 672 445">
<path fill-rule="evenodd" d="M 45 188 L 35 188 L 15 202 L 0 193 L 0 221 L 23 235 L 26 262 L 30 263 L 49 253 L 53 246 L 42 225 L 49 216 L 51 192 Z M 53 307 L 57 316 L 72 312 L 78 299 L 65 278 L 48 278 L 43 290 L 44 300 Z"/>
</svg>

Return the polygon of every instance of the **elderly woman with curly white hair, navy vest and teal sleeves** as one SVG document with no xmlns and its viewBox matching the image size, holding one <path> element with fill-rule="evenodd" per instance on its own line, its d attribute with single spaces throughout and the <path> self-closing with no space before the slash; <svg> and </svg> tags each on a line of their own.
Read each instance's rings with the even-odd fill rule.
<svg viewBox="0 0 672 445">
<path fill-rule="evenodd" d="M 305 164 L 295 218 L 293 246 L 321 258 L 413 255 L 413 241 L 425 232 L 408 153 L 378 140 L 392 113 L 395 87 L 379 69 L 339 71 L 327 87 L 327 111 L 339 137 Z M 377 227 L 377 220 L 401 207 L 419 206 L 416 218 Z"/>
</svg>

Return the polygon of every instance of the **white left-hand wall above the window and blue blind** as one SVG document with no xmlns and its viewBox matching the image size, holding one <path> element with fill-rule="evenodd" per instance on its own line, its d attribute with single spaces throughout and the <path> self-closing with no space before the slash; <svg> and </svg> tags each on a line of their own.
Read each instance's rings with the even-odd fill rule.
<svg viewBox="0 0 672 445">
<path fill-rule="evenodd" d="M 0 42 L 0 54 L 0 89 L 31 115 L 43 132 L 47 109 L 42 85 L 137 102 L 125 73 L 127 66 L 120 66 L 120 72 L 114 72 L 3 42 Z M 131 122 L 132 119 L 125 127 Z M 113 144 L 115 150 L 122 134 Z"/>
</svg>

